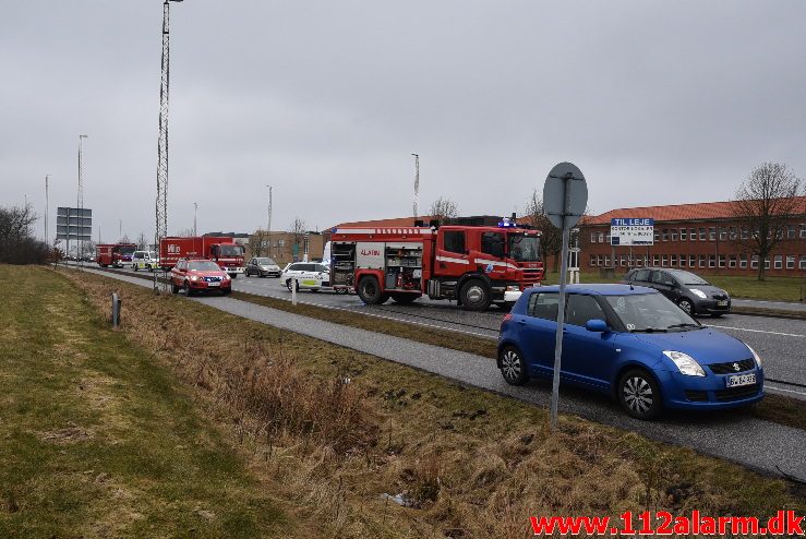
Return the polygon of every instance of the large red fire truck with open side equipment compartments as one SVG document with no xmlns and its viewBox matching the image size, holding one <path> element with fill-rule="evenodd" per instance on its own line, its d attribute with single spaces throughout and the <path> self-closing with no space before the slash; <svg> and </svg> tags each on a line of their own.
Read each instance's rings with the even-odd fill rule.
<svg viewBox="0 0 806 539">
<path fill-rule="evenodd" d="M 428 295 L 481 311 L 493 302 L 512 304 L 525 288 L 542 280 L 540 231 L 497 217 L 447 223 L 335 229 L 330 244 L 333 286 L 353 287 L 369 304 L 389 298 L 411 303 Z"/>
</svg>

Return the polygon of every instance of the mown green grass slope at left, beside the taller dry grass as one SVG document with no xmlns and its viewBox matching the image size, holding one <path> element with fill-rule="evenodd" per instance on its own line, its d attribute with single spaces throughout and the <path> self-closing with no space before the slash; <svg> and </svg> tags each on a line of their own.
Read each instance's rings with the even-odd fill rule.
<svg viewBox="0 0 806 539">
<path fill-rule="evenodd" d="M 287 537 L 192 394 L 75 286 L 0 266 L 0 537 Z"/>
</svg>

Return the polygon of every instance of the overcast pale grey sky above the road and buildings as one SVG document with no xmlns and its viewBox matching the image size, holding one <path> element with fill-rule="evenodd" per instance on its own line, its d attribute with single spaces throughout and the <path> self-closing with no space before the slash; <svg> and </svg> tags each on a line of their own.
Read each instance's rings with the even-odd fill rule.
<svg viewBox="0 0 806 539">
<path fill-rule="evenodd" d="M 154 233 L 159 0 L 0 0 L 0 205 L 84 205 Z M 590 206 L 727 200 L 762 161 L 806 175 L 806 2 L 171 4 L 171 233 L 520 211 L 548 171 Z M 51 216 L 53 215 L 51 213 Z M 53 219 L 55 221 L 55 219 Z M 43 233 L 41 223 L 38 233 Z M 52 235 L 52 230 L 51 230 Z"/>
</svg>

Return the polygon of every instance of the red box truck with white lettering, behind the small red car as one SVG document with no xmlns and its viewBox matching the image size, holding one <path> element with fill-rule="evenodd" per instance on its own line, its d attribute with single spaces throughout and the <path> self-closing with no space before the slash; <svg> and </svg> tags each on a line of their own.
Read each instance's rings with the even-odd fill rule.
<svg viewBox="0 0 806 539">
<path fill-rule="evenodd" d="M 208 259 L 218 264 L 230 277 L 243 273 L 243 245 L 230 237 L 196 236 L 190 238 L 167 237 L 159 241 L 159 265 L 170 270 L 179 259 Z"/>
</svg>

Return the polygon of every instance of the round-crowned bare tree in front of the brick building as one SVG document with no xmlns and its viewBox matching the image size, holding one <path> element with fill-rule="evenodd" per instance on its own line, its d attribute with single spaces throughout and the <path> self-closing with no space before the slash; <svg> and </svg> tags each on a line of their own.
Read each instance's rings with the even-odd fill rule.
<svg viewBox="0 0 806 539">
<path fill-rule="evenodd" d="M 780 163 L 762 163 L 754 168 L 736 190 L 733 217 L 741 233 L 734 240 L 759 259 L 758 280 L 765 280 L 765 264 L 778 242 L 786 237 L 786 225 L 806 209 L 796 197 L 801 179 Z"/>
</svg>

